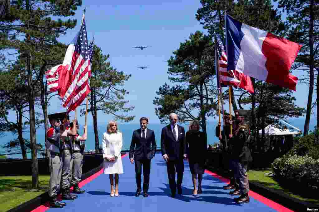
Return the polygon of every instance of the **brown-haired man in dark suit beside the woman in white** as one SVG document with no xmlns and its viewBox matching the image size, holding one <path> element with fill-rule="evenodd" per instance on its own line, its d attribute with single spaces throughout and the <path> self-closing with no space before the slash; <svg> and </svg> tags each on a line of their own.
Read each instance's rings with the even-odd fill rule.
<svg viewBox="0 0 319 212">
<path fill-rule="evenodd" d="M 154 131 L 147 128 L 148 119 L 140 119 L 141 128 L 133 132 L 130 146 L 130 161 L 135 161 L 135 177 L 137 190 L 135 196 L 139 196 L 142 189 L 142 165 L 143 165 L 143 196 L 147 197 L 147 191 L 150 184 L 151 159 L 155 155 L 156 142 Z M 152 147 L 151 147 L 152 144 Z M 135 150 L 134 150 L 135 149 Z M 133 157 L 134 155 L 134 157 Z"/>
</svg>

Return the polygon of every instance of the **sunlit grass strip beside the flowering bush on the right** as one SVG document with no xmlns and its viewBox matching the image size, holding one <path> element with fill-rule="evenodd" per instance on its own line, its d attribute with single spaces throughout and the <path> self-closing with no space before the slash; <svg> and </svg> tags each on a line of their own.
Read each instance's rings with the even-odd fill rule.
<svg viewBox="0 0 319 212">
<path fill-rule="evenodd" d="M 262 169 L 262 170 L 249 170 L 248 171 L 248 177 L 250 182 L 256 182 L 263 186 L 270 187 L 275 190 L 279 190 L 284 192 L 285 194 L 294 197 L 296 199 L 299 199 L 301 201 L 307 201 L 312 204 L 319 205 L 319 198 L 313 199 L 316 195 L 316 191 L 314 189 L 308 189 L 305 187 L 298 187 L 298 183 L 292 185 L 284 185 L 283 183 L 278 183 L 276 179 L 273 177 L 265 175 L 266 173 L 272 172 L 271 169 Z"/>
</svg>

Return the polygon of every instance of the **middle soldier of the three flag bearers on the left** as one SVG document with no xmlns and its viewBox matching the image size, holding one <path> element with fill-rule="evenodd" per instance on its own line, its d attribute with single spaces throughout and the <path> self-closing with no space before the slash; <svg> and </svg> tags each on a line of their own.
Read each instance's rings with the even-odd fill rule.
<svg viewBox="0 0 319 212">
<path fill-rule="evenodd" d="M 66 115 L 66 113 L 65 113 Z M 63 158 L 63 169 L 62 169 L 62 199 L 63 200 L 75 200 L 78 198 L 75 194 L 70 194 L 70 183 L 72 178 L 72 167 L 73 167 L 73 159 L 72 159 L 72 145 L 70 136 L 77 135 L 76 130 L 70 130 L 70 118 L 69 115 L 62 120 L 62 123 L 65 126 L 65 131 L 62 135 L 62 139 L 64 139 L 64 150 L 62 151 Z"/>
</svg>

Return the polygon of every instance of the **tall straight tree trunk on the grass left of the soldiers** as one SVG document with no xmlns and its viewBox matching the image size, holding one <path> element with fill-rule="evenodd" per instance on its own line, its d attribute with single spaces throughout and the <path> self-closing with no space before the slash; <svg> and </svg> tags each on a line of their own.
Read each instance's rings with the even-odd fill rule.
<svg viewBox="0 0 319 212">
<path fill-rule="evenodd" d="M 28 87 L 29 87 L 29 116 L 30 116 L 30 147 L 32 157 L 32 188 L 39 187 L 39 167 L 37 157 L 35 114 L 34 114 L 34 87 L 30 67 L 30 53 L 27 54 Z"/>
</svg>

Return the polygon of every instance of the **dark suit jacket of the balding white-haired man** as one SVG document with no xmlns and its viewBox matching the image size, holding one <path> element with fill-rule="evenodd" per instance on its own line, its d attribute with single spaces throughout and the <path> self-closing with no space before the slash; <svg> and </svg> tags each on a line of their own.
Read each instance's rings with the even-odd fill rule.
<svg viewBox="0 0 319 212">
<path fill-rule="evenodd" d="M 186 155 L 185 150 L 185 129 L 177 125 L 178 127 L 178 139 L 173 136 L 171 125 L 167 125 L 162 129 L 160 138 L 162 155 L 167 154 L 169 160 L 183 159 L 183 155 Z"/>
</svg>

